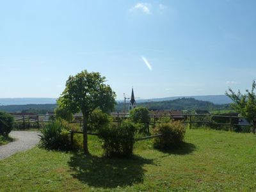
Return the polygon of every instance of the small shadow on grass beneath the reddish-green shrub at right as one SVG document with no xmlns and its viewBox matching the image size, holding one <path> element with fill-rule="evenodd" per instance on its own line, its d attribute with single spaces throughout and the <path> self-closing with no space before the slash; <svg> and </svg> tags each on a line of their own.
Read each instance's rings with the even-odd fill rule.
<svg viewBox="0 0 256 192">
<path fill-rule="evenodd" d="M 175 154 L 175 155 L 187 155 L 191 154 L 196 149 L 196 146 L 193 143 L 183 142 L 177 148 L 170 149 L 161 149 L 157 148 L 157 150 L 165 153 L 165 154 Z"/>
</svg>

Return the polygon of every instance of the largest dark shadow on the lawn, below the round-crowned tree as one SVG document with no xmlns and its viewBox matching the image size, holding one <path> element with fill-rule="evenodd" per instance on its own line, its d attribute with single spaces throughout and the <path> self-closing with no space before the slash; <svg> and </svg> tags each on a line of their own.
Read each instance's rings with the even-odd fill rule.
<svg viewBox="0 0 256 192">
<path fill-rule="evenodd" d="M 153 164 L 153 160 L 140 156 L 130 159 L 110 159 L 106 157 L 74 154 L 68 162 L 75 172 L 72 176 L 89 186 L 116 188 L 131 186 L 143 182 L 144 164 Z"/>
</svg>

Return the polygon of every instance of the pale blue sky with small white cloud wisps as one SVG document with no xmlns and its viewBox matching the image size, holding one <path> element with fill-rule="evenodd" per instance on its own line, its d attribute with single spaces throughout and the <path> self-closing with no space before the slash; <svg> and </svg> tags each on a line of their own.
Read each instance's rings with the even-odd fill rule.
<svg viewBox="0 0 256 192">
<path fill-rule="evenodd" d="M 0 98 L 60 97 L 100 72 L 140 99 L 242 92 L 256 75 L 256 1 L 0 0 Z"/>
</svg>

